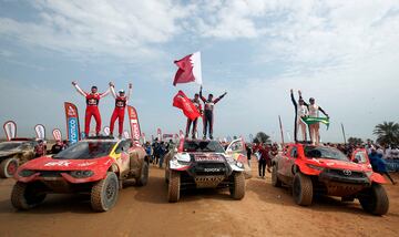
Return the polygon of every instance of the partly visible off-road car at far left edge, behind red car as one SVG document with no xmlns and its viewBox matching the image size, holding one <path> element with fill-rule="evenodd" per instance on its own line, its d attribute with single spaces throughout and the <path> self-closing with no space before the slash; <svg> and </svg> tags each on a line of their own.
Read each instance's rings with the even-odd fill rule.
<svg viewBox="0 0 399 237">
<path fill-rule="evenodd" d="M 37 142 L 30 138 L 12 138 L 0 143 L 0 177 L 12 177 L 20 164 L 34 158 Z"/>
</svg>

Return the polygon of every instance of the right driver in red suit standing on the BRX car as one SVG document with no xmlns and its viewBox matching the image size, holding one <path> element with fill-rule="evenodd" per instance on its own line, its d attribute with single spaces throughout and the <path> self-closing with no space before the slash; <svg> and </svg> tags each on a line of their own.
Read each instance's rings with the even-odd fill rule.
<svg viewBox="0 0 399 237">
<path fill-rule="evenodd" d="M 110 135 L 113 136 L 113 131 L 114 131 L 114 125 L 115 125 L 115 121 L 117 120 L 117 124 L 119 124 L 119 138 L 122 138 L 122 133 L 123 133 L 123 122 L 124 122 L 124 113 L 126 110 L 126 104 L 127 101 L 132 94 L 132 83 L 129 83 L 129 92 L 127 95 L 125 95 L 124 90 L 120 90 L 119 91 L 119 95 L 116 95 L 115 93 L 115 85 L 110 82 L 110 91 L 112 96 L 115 99 L 115 109 L 112 113 L 111 116 L 111 122 L 110 122 Z"/>
</svg>

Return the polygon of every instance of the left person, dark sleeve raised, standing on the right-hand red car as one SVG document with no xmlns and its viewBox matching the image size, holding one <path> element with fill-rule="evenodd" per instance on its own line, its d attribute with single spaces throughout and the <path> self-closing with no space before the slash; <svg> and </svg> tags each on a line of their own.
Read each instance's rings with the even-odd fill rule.
<svg viewBox="0 0 399 237">
<path fill-rule="evenodd" d="M 300 91 L 299 91 L 300 94 Z M 309 111 L 308 107 L 305 105 L 304 99 L 301 99 L 301 96 L 299 96 L 298 103 L 296 102 L 295 97 L 294 97 L 294 90 L 290 90 L 290 97 L 291 97 L 291 102 L 294 104 L 295 107 L 295 126 L 294 126 L 294 140 L 295 142 L 297 142 L 297 135 L 298 135 L 298 128 L 300 128 L 301 135 L 303 135 L 303 141 L 307 140 L 307 134 L 306 134 L 306 124 L 304 123 L 304 121 L 301 121 L 301 117 L 306 117 L 309 115 Z"/>
</svg>

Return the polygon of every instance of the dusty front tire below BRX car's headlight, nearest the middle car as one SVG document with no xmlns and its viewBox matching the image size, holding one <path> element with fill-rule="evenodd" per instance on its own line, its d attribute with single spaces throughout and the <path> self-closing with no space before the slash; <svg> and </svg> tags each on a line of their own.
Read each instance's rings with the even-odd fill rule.
<svg viewBox="0 0 399 237">
<path fill-rule="evenodd" d="M 116 204 L 117 195 L 117 176 L 113 172 L 108 172 L 106 177 L 92 187 L 91 206 L 95 212 L 106 212 Z"/>
</svg>

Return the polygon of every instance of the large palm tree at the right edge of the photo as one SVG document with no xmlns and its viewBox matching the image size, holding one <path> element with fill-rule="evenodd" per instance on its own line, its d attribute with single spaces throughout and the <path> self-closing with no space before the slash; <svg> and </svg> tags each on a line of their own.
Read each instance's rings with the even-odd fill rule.
<svg viewBox="0 0 399 237">
<path fill-rule="evenodd" d="M 383 122 L 377 124 L 374 134 L 377 135 L 377 142 L 381 145 L 391 145 L 399 143 L 399 124 L 395 122 Z"/>
</svg>

